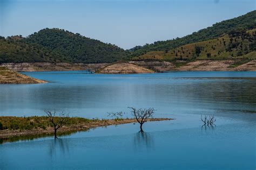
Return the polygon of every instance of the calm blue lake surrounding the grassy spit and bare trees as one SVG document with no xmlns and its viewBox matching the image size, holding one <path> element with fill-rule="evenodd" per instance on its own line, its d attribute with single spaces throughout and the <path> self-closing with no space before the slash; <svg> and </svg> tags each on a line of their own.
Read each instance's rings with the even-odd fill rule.
<svg viewBox="0 0 256 170">
<path fill-rule="evenodd" d="M 109 118 L 127 107 L 172 121 L 96 128 L 0 145 L 0 169 L 255 169 L 256 72 L 24 73 L 46 84 L 1 84 L 0 115 Z M 201 115 L 217 117 L 202 126 Z"/>
</svg>

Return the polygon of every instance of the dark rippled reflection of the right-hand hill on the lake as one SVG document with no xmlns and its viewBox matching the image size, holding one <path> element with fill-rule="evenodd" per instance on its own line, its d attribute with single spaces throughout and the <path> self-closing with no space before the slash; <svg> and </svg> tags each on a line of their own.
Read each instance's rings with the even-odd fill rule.
<svg viewBox="0 0 256 170">
<path fill-rule="evenodd" d="M 191 77 L 179 87 L 187 97 L 215 102 L 256 103 L 256 78 L 244 77 Z M 184 80 L 184 81 L 185 81 Z M 192 81 L 192 82 L 191 82 Z"/>
</svg>

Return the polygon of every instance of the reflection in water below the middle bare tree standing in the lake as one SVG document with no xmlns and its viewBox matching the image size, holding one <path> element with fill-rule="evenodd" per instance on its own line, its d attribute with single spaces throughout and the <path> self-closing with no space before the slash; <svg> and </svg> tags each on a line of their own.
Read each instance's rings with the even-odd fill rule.
<svg viewBox="0 0 256 170">
<path fill-rule="evenodd" d="M 134 150 L 140 150 L 146 147 L 152 149 L 154 147 L 154 140 L 150 133 L 138 132 L 134 134 Z"/>
</svg>

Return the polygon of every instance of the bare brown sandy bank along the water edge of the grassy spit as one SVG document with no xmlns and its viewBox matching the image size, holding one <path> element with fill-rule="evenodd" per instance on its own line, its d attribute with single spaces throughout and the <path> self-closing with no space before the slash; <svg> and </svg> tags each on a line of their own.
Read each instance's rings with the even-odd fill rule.
<svg viewBox="0 0 256 170">
<path fill-rule="evenodd" d="M 148 121 L 169 121 L 170 118 L 151 118 Z M 106 120 L 95 120 L 90 123 L 79 123 L 69 126 L 63 126 L 58 130 L 58 133 L 62 132 L 74 132 L 74 131 L 85 131 L 100 126 L 119 125 L 127 123 L 137 123 L 136 119 L 106 119 Z M 139 126 L 138 126 L 139 130 Z M 0 130 L 0 139 L 22 137 L 22 136 L 36 136 L 39 134 L 52 134 L 53 128 L 48 127 L 46 129 L 31 129 L 31 130 Z"/>
</svg>

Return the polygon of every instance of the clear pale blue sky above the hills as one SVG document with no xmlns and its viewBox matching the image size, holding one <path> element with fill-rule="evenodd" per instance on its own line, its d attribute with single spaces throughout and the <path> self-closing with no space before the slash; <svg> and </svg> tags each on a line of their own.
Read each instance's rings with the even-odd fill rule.
<svg viewBox="0 0 256 170">
<path fill-rule="evenodd" d="M 124 49 L 183 37 L 256 9 L 256 0 L 0 0 L 0 36 L 46 27 Z"/>
</svg>

